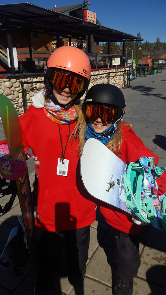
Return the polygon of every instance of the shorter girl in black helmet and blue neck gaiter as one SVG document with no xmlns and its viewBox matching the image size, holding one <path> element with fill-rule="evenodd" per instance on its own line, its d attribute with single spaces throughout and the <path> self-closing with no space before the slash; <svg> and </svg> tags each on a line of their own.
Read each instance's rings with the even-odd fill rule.
<svg viewBox="0 0 166 295">
<path fill-rule="evenodd" d="M 157 165 L 159 157 L 144 146 L 132 131 L 131 124 L 121 120 L 126 105 L 118 87 L 109 84 L 93 86 L 85 96 L 82 110 L 87 121 L 86 139 L 100 140 L 126 164 L 144 155 L 154 157 Z M 162 175 L 162 179 L 165 175 Z M 165 187 L 158 186 L 157 192 L 164 194 Z M 140 266 L 139 237 L 143 226 L 135 224 L 131 216 L 106 203 L 100 202 L 99 207 L 108 224 L 119 230 L 113 249 L 116 266 L 114 295 L 132 295 L 133 278 Z"/>
</svg>

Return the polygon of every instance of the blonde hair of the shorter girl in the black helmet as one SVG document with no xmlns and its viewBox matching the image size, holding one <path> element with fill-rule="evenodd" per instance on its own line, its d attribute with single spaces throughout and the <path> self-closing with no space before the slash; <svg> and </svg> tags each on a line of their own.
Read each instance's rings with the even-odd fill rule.
<svg viewBox="0 0 166 295">
<path fill-rule="evenodd" d="M 117 124 L 118 130 L 116 131 L 113 138 L 105 144 L 105 146 L 107 148 L 109 148 L 114 154 L 117 153 L 121 147 L 122 139 L 123 139 L 122 132 L 121 132 L 121 126 L 124 124 L 128 125 L 131 129 L 133 129 L 133 125 L 130 123 L 123 122 L 123 121 L 118 122 L 118 124 Z"/>
</svg>

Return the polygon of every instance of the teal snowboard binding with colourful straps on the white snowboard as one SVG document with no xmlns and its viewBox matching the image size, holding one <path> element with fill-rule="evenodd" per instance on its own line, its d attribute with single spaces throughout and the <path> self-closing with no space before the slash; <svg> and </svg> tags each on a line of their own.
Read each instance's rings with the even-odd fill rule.
<svg viewBox="0 0 166 295">
<path fill-rule="evenodd" d="M 126 206 L 143 222 L 154 222 L 153 201 L 157 199 L 155 178 L 160 178 L 165 169 L 165 167 L 155 168 L 154 157 L 141 157 L 139 163 L 131 162 L 128 165 L 123 179 L 126 190 Z"/>
</svg>

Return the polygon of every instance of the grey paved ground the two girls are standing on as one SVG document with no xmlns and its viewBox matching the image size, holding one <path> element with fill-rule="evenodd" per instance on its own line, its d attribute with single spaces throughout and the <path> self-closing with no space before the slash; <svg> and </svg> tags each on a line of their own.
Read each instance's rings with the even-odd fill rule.
<svg viewBox="0 0 166 295">
<path fill-rule="evenodd" d="M 166 166 L 166 71 L 138 77 L 131 81 L 131 87 L 122 89 L 126 100 L 124 120 L 134 126 L 134 132 L 145 145 L 160 157 L 159 165 Z M 0 140 L 4 139 L 0 126 Z M 34 181 L 34 162 L 28 160 L 31 186 Z M 9 196 L 0 199 L 2 207 Z M 18 198 L 10 212 L 0 217 L 0 254 L 6 244 L 10 231 L 17 226 L 20 215 Z M 111 249 L 115 244 L 116 230 L 111 228 L 97 212 L 97 218 L 91 226 L 89 259 L 84 283 L 76 289 L 68 283 L 65 251 L 59 277 L 50 292 L 41 295 L 111 295 L 112 274 L 114 270 Z M 149 226 L 145 227 L 140 241 L 141 266 L 134 279 L 133 295 L 166 294 L 166 235 Z M 14 276 L 11 269 L 0 267 L 1 295 L 33 294 L 30 265 L 22 268 L 20 276 Z"/>
</svg>

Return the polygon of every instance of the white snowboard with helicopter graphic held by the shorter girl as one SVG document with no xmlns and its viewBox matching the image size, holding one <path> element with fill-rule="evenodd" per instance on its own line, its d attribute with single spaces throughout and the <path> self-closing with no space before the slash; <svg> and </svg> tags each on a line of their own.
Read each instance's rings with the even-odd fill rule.
<svg viewBox="0 0 166 295">
<path fill-rule="evenodd" d="M 141 158 L 140 159 L 144 162 L 147 157 Z M 153 157 L 147 159 L 150 158 Z M 151 159 L 152 166 L 154 165 L 153 159 Z M 146 167 L 146 163 L 143 163 L 143 165 Z M 139 170 L 142 168 L 139 164 L 133 164 L 133 166 L 134 169 L 137 169 L 138 166 Z M 148 167 L 148 169 L 150 168 L 152 167 Z M 138 207 L 136 207 L 134 203 L 135 197 L 133 199 L 131 198 L 128 189 L 130 185 L 126 176 L 129 173 L 129 169 L 129 165 L 126 165 L 126 163 L 112 153 L 99 140 L 90 138 L 85 142 L 80 159 L 80 173 L 85 189 L 96 199 L 121 209 L 128 214 L 132 214 L 135 222 L 139 224 L 139 222 L 137 222 L 137 216 L 139 216 L 140 213 L 137 213 Z M 143 170 L 144 168 L 142 168 L 142 171 Z M 135 172 L 132 171 L 132 173 Z M 149 173 L 145 173 L 144 175 L 147 186 L 143 184 L 141 188 L 135 188 L 136 194 L 138 196 L 140 195 L 140 204 L 142 201 L 141 206 L 144 206 L 140 207 L 139 212 L 142 214 L 141 208 L 146 207 L 149 214 L 149 224 L 162 232 L 166 232 L 166 196 L 159 196 L 158 200 L 156 186 L 154 185 L 154 176 L 152 177 Z M 135 177 L 135 175 L 133 176 Z M 151 186 L 149 186 L 149 179 Z M 150 211 L 152 212 L 149 213 Z"/>
</svg>

